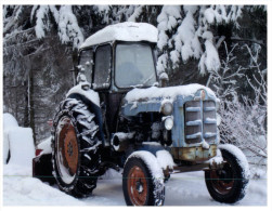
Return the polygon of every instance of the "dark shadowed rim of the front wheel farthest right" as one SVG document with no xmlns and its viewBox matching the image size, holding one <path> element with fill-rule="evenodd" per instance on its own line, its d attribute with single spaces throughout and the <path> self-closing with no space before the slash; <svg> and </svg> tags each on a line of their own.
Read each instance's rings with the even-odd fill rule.
<svg viewBox="0 0 272 211">
<path fill-rule="evenodd" d="M 211 185 L 221 195 L 229 194 L 234 185 L 233 170 L 226 162 L 222 170 L 210 171 Z"/>
</svg>

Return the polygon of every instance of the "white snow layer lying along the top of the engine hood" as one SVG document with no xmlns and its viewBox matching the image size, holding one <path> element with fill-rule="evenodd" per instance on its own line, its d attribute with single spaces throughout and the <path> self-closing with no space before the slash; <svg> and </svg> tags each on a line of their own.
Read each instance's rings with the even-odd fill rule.
<svg viewBox="0 0 272 211">
<path fill-rule="evenodd" d="M 194 95 L 199 89 L 206 90 L 209 95 L 216 97 L 216 94 L 209 88 L 197 83 L 193 83 L 187 85 L 178 85 L 170 88 L 152 87 L 148 89 L 133 89 L 127 93 L 126 100 L 128 103 L 137 102 L 143 98 L 152 100 L 157 97 L 170 98 L 174 101 L 178 95 L 183 95 L 183 96 Z"/>
</svg>

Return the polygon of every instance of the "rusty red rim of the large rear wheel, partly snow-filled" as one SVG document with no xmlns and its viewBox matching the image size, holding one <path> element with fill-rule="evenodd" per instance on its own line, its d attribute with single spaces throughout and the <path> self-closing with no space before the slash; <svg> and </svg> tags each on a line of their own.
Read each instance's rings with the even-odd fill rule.
<svg viewBox="0 0 272 211">
<path fill-rule="evenodd" d="M 70 184 L 77 173 L 78 142 L 68 117 L 63 117 L 56 128 L 56 166 L 62 181 Z"/>
</svg>

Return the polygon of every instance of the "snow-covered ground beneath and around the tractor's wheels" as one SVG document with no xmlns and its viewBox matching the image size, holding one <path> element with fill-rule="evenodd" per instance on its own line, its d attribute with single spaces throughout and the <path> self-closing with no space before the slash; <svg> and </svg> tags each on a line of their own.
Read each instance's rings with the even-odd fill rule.
<svg viewBox="0 0 272 211">
<path fill-rule="evenodd" d="M 121 174 L 111 170 L 93 195 L 85 199 L 68 196 L 57 186 L 31 177 L 31 169 L 3 166 L 3 206 L 126 206 Z M 166 184 L 165 206 L 229 206 L 211 199 L 204 172 L 171 175 Z M 250 180 L 246 197 L 234 206 L 267 206 L 267 177 Z"/>
</svg>

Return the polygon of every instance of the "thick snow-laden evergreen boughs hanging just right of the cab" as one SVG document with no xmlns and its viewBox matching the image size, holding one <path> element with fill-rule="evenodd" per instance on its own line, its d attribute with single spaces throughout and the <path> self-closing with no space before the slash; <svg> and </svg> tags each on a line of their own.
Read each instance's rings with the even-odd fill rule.
<svg viewBox="0 0 272 211">
<path fill-rule="evenodd" d="M 171 67 L 177 68 L 181 61 L 186 63 L 193 57 L 200 58 L 198 69 L 202 75 L 217 71 L 220 61 L 210 26 L 236 23 L 242 14 L 241 9 L 239 5 L 164 5 L 157 17 L 157 47 L 161 56 L 158 58 L 159 69 L 163 71 Z M 169 57 L 167 65 L 161 63 L 165 57 Z"/>
</svg>

